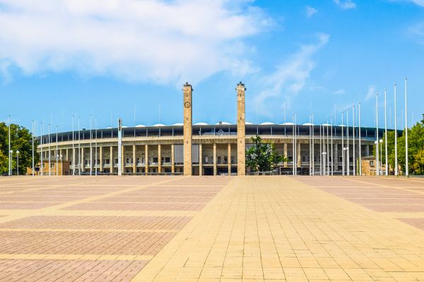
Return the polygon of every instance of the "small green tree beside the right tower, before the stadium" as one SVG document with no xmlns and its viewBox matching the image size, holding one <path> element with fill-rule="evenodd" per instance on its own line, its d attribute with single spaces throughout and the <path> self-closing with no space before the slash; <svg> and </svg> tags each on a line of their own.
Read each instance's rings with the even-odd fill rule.
<svg viewBox="0 0 424 282">
<path fill-rule="evenodd" d="M 263 143 L 258 135 L 252 137 L 254 145 L 246 150 L 246 165 L 254 171 L 272 171 L 285 158 L 276 152 L 275 145 Z"/>
</svg>

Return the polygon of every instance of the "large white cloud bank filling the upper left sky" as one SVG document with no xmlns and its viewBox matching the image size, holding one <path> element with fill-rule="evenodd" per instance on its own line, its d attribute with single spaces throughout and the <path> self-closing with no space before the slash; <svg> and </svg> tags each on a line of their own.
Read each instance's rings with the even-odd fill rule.
<svg viewBox="0 0 424 282">
<path fill-rule="evenodd" d="M 27 75 L 196 82 L 252 71 L 243 39 L 268 24 L 242 0 L 0 0 L 0 61 Z"/>
</svg>

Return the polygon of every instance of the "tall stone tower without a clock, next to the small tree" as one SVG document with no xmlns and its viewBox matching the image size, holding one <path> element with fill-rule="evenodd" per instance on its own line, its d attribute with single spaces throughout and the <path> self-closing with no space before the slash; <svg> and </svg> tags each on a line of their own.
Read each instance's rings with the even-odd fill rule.
<svg viewBox="0 0 424 282">
<path fill-rule="evenodd" d="M 237 84 L 237 175 L 246 174 L 245 85 Z"/>
</svg>

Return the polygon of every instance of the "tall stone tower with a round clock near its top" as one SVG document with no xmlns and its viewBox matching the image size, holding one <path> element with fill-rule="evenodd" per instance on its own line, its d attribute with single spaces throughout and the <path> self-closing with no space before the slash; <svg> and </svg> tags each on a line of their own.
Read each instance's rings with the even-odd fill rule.
<svg viewBox="0 0 424 282">
<path fill-rule="evenodd" d="M 192 85 L 188 82 L 182 87 L 184 106 L 184 176 L 192 175 L 192 135 L 193 135 L 193 111 L 192 111 Z"/>
</svg>

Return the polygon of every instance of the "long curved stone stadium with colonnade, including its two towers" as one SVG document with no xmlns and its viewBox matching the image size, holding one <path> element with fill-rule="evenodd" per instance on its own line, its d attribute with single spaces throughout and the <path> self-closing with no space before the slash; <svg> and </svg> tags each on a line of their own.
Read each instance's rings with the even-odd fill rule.
<svg viewBox="0 0 424 282">
<path fill-rule="evenodd" d="M 193 89 L 186 83 L 183 123 L 129 128 L 119 119 L 117 128 L 43 135 L 37 151 L 43 163 L 48 159 L 69 163 L 64 174 L 244 175 L 251 171 L 246 167 L 246 148 L 251 137 L 259 135 L 288 159 L 278 164 L 279 173 L 353 175 L 359 173 L 360 156 L 372 155 L 377 136 L 384 134 L 384 129 L 377 135 L 375 128 L 346 125 L 247 123 L 245 91 L 240 82 L 237 124 L 193 124 Z"/>
</svg>

